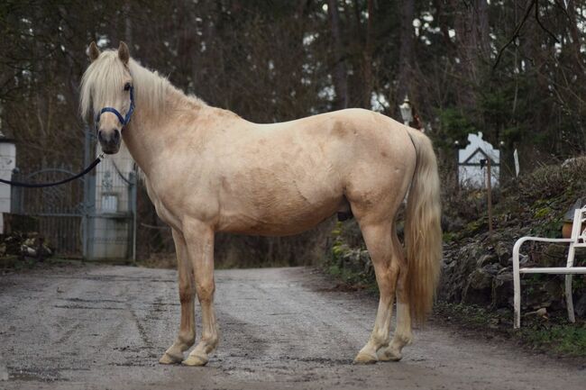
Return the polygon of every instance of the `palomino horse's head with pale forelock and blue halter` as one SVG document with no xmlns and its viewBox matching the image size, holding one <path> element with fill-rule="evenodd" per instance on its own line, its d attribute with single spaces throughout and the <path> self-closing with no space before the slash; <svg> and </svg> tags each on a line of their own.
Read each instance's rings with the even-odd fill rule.
<svg viewBox="0 0 586 390">
<path fill-rule="evenodd" d="M 100 52 L 96 43 L 88 48 L 92 63 L 81 80 L 80 108 L 84 118 L 93 112 L 97 139 L 106 154 L 120 150 L 122 131 L 134 110 L 133 77 L 128 62 L 128 46 Z"/>
</svg>

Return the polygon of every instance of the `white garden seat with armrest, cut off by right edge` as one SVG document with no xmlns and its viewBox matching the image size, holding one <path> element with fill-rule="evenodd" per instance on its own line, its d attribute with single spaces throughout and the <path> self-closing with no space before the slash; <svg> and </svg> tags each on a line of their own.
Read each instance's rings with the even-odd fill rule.
<svg viewBox="0 0 586 390">
<path fill-rule="evenodd" d="M 521 327 L 521 275 L 520 274 L 560 274 L 565 275 L 565 302 L 568 308 L 570 322 L 576 322 L 573 314 L 572 302 L 572 274 L 586 274 L 586 267 L 573 267 L 573 258 L 576 248 L 586 248 L 586 229 L 581 225 L 586 222 L 586 206 L 574 210 L 572 236 L 569 239 L 545 239 L 541 237 L 522 237 L 513 247 L 513 284 L 515 286 L 515 328 Z M 553 268 L 519 268 L 519 249 L 526 241 L 566 242 L 570 244 L 565 267 Z"/>
</svg>

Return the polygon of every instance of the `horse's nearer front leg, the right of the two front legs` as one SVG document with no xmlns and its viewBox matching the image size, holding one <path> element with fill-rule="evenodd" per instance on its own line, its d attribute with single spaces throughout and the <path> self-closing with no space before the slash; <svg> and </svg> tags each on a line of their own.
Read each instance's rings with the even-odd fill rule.
<svg viewBox="0 0 586 390">
<path fill-rule="evenodd" d="M 201 305 L 202 322 L 201 340 L 183 364 L 205 366 L 208 354 L 215 349 L 219 339 L 214 310 L 214 231 L 202 222 L 185 222 L 183 234 L 196 277 L 197 299 Z"/>
</svg>

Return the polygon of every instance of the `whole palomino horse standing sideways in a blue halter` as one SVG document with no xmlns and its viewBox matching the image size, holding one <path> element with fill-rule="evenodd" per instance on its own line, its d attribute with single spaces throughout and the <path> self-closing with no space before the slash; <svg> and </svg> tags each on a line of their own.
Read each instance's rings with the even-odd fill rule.
<svg viewBox="0 0 586 390">
<path fill-rule="evenodd" d="M 442 256 L 439 178 L 424 134 L 362 109 L 252 123 L 184 95 L 131 59 L 124 42 L 103 52 L 92 42 L 88 52 L 81 112 L 97 114 L 105 153 L 116 153 L 124 138 L 173 231 L 181 320 L 160 363 L 203 366 L 217 345 L 215 231 L 296 234 L 336 212 L 359 222 L 380 289 L 374 329 L 355 362 L 401 358 L 412 318 L 422 321 L 431 309 Z M 407 190 L 406 258 L 395 214 Z M 202 336 L 184 360 L 196 340 L 196 293 Z"/>
</svg>

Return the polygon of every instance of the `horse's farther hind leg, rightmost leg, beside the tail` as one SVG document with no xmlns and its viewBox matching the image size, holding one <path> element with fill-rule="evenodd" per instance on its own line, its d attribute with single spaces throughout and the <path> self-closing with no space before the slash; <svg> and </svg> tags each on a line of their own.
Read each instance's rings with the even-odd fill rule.
<svg viewBox="0 0 586 390">
<path fill-rule="evenodd" d="M 407 261 L 401 243 L 398 240 L 396 232 L 393 230 L 393 261 L 395 259 L 399 265 L 398 283 L 397 283 L 397 327 L 393 340 L 390 341 L 389 347 L 381 348 L 377 351 L 379 360 L 400 360 L 402 358 L 401 349 L 411 342 L 413 333 L 411 331 L 411 312 L 409 308 L 409 296 L 407 294 Z"/>
</svg>

